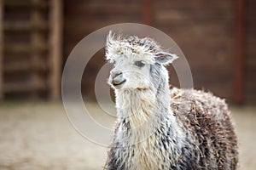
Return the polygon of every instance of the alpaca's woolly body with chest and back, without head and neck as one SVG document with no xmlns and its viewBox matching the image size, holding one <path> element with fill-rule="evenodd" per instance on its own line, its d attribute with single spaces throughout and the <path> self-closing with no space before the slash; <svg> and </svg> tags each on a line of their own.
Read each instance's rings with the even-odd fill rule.
<svg viewBox="0 0 256 170">
<path fill-rule="evenodd" d="M 236 135 L 224 100 L 177 88 L 170 98 L 171 115 L 155 117 L 158 127 L 144 125 L 152 131 L 118 121 L 107 169 L 236 169 Z"/>
</svg>

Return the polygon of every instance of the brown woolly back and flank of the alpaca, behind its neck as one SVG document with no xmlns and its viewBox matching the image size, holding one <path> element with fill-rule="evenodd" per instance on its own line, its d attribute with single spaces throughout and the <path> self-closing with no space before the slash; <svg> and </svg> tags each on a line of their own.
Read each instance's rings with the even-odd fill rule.
<svg viewBox="0 0 256 170">
<path fill-rule="evenodd" d="M 237 139 L 224 99 L 177 88 L 171 90 L 171 98 L 177 122 L 200 150 L 199 165 L 205 169 L 236 169 Z"/>
</svg>

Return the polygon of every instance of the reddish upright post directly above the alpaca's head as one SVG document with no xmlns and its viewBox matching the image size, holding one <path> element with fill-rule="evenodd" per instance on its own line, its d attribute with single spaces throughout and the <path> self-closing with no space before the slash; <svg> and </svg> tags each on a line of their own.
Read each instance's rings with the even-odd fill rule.
<svg viewBox="0 0 256 170">
<path fill-rule="evenodd" d="M 153 25 L 153 8 L 152 0 L 143 0 L 143 24 L 152 26 Z"/>
</svg>

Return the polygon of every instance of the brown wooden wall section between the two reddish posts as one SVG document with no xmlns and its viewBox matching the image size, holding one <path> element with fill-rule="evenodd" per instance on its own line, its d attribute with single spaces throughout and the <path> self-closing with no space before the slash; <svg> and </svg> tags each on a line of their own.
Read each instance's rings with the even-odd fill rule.
<svg viewBox="0 0 256 170">
<path fill-rule="evenodd" d="M 228 99 L 233 85 L 233 2 L 166 0 L 154 5 L 154 26 L 170 35 L 183 50 L 195 88 Z"/>
</svg>

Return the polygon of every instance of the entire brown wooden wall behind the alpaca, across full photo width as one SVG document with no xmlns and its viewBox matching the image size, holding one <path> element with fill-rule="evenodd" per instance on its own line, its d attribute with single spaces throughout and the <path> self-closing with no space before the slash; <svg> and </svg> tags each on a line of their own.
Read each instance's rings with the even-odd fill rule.
<svg viewBox="0 0 256 170">
<path fill-rule="evenodd" d="M 232 99 L 236 94 L 237 1 L 64 0 L 62 5 L 61 1 L 57 5 L 63 6 L 62 19 L 51 21 L 53 1 L 6 0 L 1 6 L 3 25 L 0 25 L 4 37 L 3 54 L 0 53 L 3 60 L 0 85 L 4 98 L 31 96 L 27 94 L 50 96 L 49 80 L 55 67 L 50 64 L 53 58 L 50 52 L 56 46 L 50 45 L 54 23 L 61 26 L 63 22 L 63 48 L 59 48 L 63 52 L 64 65 L 74 46 L 90 32 L 103 26 L 133 22 L 150 24 L 177 42 L 189 61 L 195 88 Z M 244 2 L 246 31 L 244 71 L 241 71 L 244 72 L 241 80 L 244 89 L 241 92 L 245 102 L 252 103 L 256 101 L 256 1 Z M 95 54 L 85 68 L 82 92 L 90 99 L 95 96 L 94 82 L 105 63 L 103 58 L 104 49 Z M 172 66 L 169 69 L 171 83 L 178 86 L 175 71 Z"/>
</svg>

